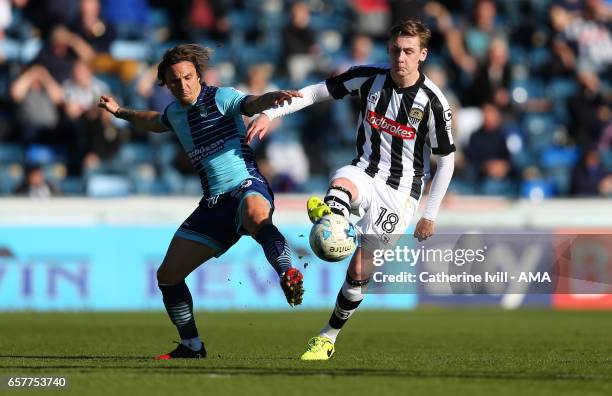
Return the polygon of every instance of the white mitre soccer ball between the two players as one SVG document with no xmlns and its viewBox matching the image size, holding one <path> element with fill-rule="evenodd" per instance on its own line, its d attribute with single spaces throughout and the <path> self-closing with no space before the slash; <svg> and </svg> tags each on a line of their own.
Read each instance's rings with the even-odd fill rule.
<svg viewBox="0 0 612 396">
<path fill-rule="evenodd" d="M 309 240 L 317 257 L 334 262 L 353 254 L 357 247 L 357 232 L 344 216 L 329 214 L 312 226 Z"/>
</svg>

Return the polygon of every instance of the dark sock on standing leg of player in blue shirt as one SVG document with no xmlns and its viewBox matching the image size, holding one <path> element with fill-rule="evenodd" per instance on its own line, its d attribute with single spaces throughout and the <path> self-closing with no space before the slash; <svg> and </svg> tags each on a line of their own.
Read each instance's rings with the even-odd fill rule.
<svg viewBox="0 0 612 396">
<path fill-rule="evenodd" d="M 176 285 L 158 285 L 164 297 L 164 306 L 170 320 L 176 326 L 181 340 L 198 337 L 193 316 L 193 300 L 183 280 Z"/>
</svg>

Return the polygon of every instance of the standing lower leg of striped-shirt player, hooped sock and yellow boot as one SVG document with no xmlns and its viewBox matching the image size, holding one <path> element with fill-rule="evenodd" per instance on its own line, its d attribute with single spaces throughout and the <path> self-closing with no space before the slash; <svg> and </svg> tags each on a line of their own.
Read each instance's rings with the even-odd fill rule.
<svg viewBox="0 0 612 396">
<path fill-rule="evenodd" d="M 310 339 L 306 352 L 300 357 L 301 360 L 327 360 L 332 357 L 335 351 L 336 337 L 338 337 L 342 326 L 363 301 L 362 287 L 366 286 L 367 283 L 368 280 L 354 280 L 348 273 L 346 274 L 346 279 L 336 298 L 336 306 L 329 322 L 321 329 L 318 336 Z"/>
</svg>

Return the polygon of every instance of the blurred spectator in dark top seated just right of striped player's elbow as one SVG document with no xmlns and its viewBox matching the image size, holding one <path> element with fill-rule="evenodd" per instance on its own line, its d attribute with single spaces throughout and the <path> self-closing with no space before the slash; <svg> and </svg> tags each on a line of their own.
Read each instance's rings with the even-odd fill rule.
<svg viewBox="0 0 612 396">
<path fill-rule="evenodd" d="M 509 176 L 512 165 L 502 131 L 501 113 L 491 103 L 482 105 L 482 113 L 483 125 L 470 137 L 466 154 L 477 180 L 504 180 Z"/>
</svg>

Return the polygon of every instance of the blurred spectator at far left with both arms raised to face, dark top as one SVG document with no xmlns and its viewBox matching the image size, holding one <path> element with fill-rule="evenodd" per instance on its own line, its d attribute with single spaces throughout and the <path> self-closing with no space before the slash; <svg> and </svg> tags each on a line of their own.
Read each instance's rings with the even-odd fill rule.
<svg viewBox="0 0 612 396">
<path fill-rule="evenodd" d="M 10 88 L 11 99 L 17 105 L 17 123 L 26 144 L 55 143 L 60 133 L 63 104 L 61 86 L 41 65 L 33 65 L 17 78 Z"/>
</svg>

